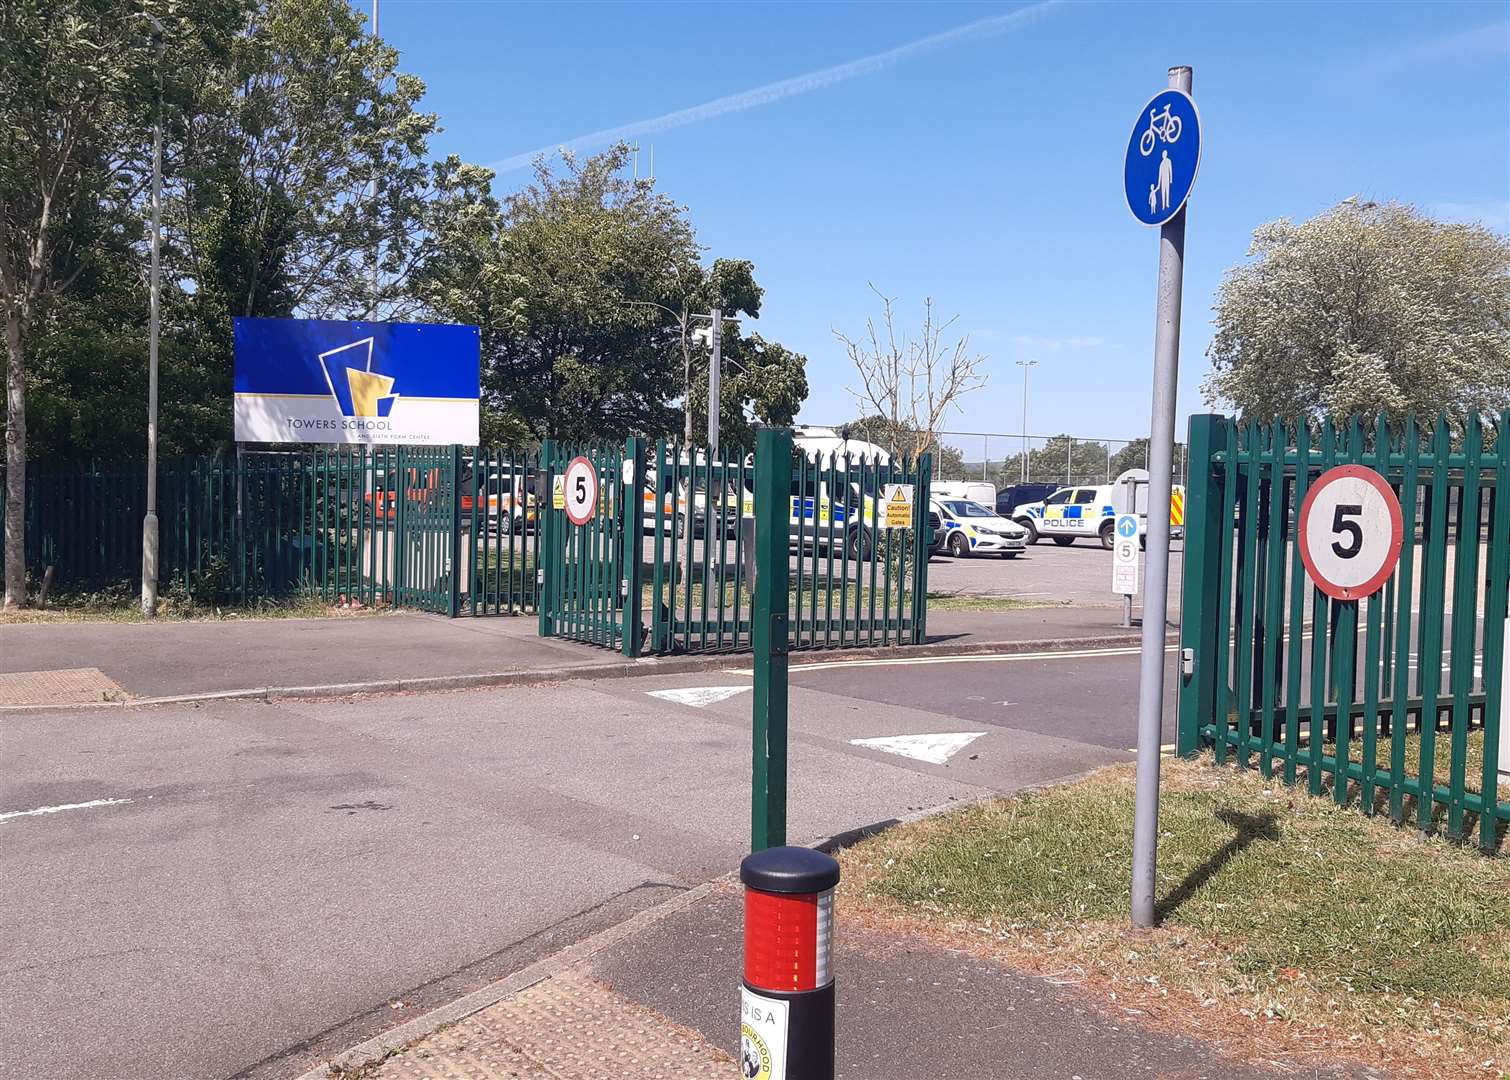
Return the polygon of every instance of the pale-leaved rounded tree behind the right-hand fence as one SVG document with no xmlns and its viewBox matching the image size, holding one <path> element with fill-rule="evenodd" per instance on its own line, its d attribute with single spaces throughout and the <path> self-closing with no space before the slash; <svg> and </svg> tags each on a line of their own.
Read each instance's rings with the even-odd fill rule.
<svg viewBox="0 0 1510 1080">
<path fill-rule="evenodd" d="M 1252 420 L 1510 406 L 1510 240 L 1348 199 L 1253 234 L 1216 304 L 1206 399 Z"/>
</svg>

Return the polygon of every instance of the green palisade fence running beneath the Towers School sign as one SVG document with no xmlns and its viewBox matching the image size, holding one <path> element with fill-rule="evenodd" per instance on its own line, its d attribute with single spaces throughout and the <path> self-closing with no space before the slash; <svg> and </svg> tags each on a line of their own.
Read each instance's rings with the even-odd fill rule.
<svg viewBox="0 0 1510 1080">
<path fill-rule="evenodd" d="M 447 615 L 533 612 L 538 468 L 533 452 L 492 447 L 166 462 L 159 582 L 216 603 L 305 594 Z M 145 508 L 140 468 L 33 467 L 27 568 L 39 577 L 53 566 L 54 592 L 137 583 Z"/>
</svg>

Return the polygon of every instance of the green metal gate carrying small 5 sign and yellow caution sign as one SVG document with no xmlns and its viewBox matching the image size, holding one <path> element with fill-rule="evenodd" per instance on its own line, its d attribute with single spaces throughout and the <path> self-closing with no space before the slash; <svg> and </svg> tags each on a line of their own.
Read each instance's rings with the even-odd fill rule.
<svg viewBox="0 0 1510 1080">
<path fill-rule="evenodd" d="M 553 488 L 578 452 L 541 452 L 541 634 L 622 650 L 738 653 L 752 642 L 755 458 L 645 440 L 580 452 L 598 514 L 566 518 Z M 915 643 L 927 634 L 930 459 L 793 455 L 769 508 L 788 539 L 790 648 Z M 904 521 L 885 497 L 911 489 Z M 547 501 L 548 500 L 548 501 Z"/>
</svg>

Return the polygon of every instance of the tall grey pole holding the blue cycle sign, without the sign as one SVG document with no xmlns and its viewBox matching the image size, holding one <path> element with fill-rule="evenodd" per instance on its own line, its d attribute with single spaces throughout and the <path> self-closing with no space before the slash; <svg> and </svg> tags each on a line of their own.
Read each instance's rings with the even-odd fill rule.
<svg viewBox="0 0 1510 1080">
<path fill-rule="evenodd" d="M 1170 68 L 1170 89 L 1190 94 L 1191 69 Z M 1148 592 L 1137 702 L 1137 793 L 1132 814 L 1132 926 L 1155 921 L 1158 861 L 1158 748 L 1164 719 L 1164 621 L 1169 612 L 1169 495 L 1175 456 L 1175 382 L 1179 376 L 1179 296 L 1185 269 L 1185 210 L 1158 233 L 1158 320 L 1154 331 L 1154 418 L 1148 465 Z"/>
</svg>

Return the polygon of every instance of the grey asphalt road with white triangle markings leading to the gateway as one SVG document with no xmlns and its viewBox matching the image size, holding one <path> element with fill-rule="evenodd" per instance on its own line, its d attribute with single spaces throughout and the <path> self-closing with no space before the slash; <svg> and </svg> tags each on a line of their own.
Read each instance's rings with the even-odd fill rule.
<svg viewBox="0 0 1510 1080">
<path fill-rule="evenodd" d="M 793 841 L 1131 760 L 1136 656 L 957 660 L 794 669 Z M 296 1075 L 732 870 L 744 665 L 6 716 L 0 1072 Z"/>
</svg>

